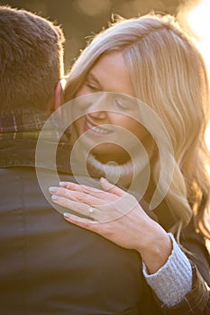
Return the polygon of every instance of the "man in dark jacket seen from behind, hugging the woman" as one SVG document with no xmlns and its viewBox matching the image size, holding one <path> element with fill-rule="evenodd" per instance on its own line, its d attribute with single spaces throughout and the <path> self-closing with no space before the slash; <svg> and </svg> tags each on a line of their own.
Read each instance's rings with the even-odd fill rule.
<svg viewBox="0 0 210 315">
<path fill-rule="evenodd" d="M 37 180 L 35 164 L 43 178 L 55 173 L 50 159 L 35 163 L 35 150 L 44 122 L 60 104 L 63 41 L 49 21 L 0 7 L 0 312 L 137 314 L 138 254 L 69 225 Z M 58 140 L 57 122 L 45 132 L 46 152 Z M 63 137 L 57 168 L 71 181 L 69 149 Z"/>
</svg>

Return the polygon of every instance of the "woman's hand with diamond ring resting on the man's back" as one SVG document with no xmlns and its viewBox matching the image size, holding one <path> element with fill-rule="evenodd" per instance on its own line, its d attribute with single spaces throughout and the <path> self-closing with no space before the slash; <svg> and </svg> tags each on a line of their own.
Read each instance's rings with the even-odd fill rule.
<svg viewBox="0 0 210 315">
<path fill-rule="evenodd" d="M 121 247 L 137 250 L 149 272 L 155 273 L 171 253 L 168 234 L 143 211 L 132 194 L 110 184 L 105 178 L 101 178 L 100 184 L 103 190 L 62 183 L 62 187 L 50 187 L 51 199 L 60 206 L 87 216 L 86 219 L 64 213 L 66 220 L 92 230 Z"/>
</svg>

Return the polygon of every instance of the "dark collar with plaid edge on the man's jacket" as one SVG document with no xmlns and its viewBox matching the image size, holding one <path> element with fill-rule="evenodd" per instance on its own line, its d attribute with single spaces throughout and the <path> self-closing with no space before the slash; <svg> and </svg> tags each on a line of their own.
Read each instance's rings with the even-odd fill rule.
<svg viewBox="0 0 210 315">
<path fill-rule="evenodd" d="M 61 121 L 54 117 L 48 120 L 49 115 L 46 113 L 0 117 L 0 167 L 38 166 L 54 169 L 48 151 L 58 143 L 57 169 L 59 172 L 71 173 L 68 161 L 71 146 L 66 135 L 61 132 Z M 43 132 L 41 129 L 46 121 L 47 128 Z M 40 133 L 46 154 L 37 165 L 35 155 Z"/>
</svg>

